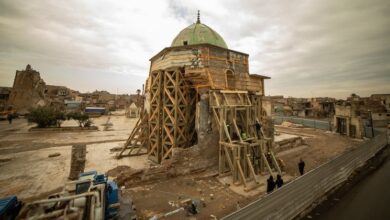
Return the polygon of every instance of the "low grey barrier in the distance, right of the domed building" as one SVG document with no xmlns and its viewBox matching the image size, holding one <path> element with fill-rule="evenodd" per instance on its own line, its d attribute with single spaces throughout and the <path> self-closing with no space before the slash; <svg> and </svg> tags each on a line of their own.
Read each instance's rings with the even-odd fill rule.
<svg viewBox="0 0 390 220">
<path fill-rule="evenodd" d="M 289 116 L 276 116 L 276 115 L 272 116 L 272 120 L 276 125 L 280 125 L 284 121 L 288 121 L 294 124 L 301 124 L 305 127 L 317 128 L 326 131 L 330 131 L 332 128 L 330 121 L 321 121 L 315 119 L 297 118 L 297 117 L 289 117 Z"/>
</svg>

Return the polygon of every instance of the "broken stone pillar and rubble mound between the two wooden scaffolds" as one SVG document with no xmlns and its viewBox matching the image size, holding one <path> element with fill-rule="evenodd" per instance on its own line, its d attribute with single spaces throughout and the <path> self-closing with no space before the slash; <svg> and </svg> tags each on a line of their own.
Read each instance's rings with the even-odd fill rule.
<svg viewBox="0 0 390 220">
<path fill-rule="evenodd" d="M 219 132 L 209 112 L 209 96 L 200 95 L 196 105 L 198 143 L 189 148 L 173 148 L 172 158 L 161 165 L 142 170 L 124 169 L 116 174 L 118 184 L 130 187 L 140 182 L 153 182 L 170 177 L 194 174 L 218 167 Z"/>
</svg>

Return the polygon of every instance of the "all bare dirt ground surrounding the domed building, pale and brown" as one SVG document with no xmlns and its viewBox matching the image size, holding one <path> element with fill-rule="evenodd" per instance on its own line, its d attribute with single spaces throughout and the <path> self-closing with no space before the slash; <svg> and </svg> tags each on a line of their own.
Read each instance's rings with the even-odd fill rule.
<svg viewBox="0 0 390 220">
<path fill-rule="evenodd" d="M 0 197 L 17 195 L 31 201 L 59 191 L 67 181 L 71 145 L 76 143 L 87 144 L 86 170 L 106 173 L 122 165 L 133 169 L 150 167 L 152 164 L 146 156 L 116 160 L 116 152 L 110 151 L 111 148 L 123 145 L 136 119 L 128 119 L 120 114 L 110 116 L 113 126 L 105 130 L 107 120 L 108 116 L 95 118 L 94 124 L 99 127 L 99 131 L 83 132 L 29 132 L 32 125 L 28 125 L 24 119 L 14 120 L 12 125 L 0 121 Z M 76 125 L 74 122 L 64 124 Z M 297 176 L 300 158 L 306 162 L 308 171 L 361 142 L 309 128 L 277 127 L 276 131 L 282 137 L 302 136 L 306 143 L 277 154 L 286 165 L 285 176 L 289 176 L 289 179 Z M 52 153 L 60 153 L 60 156 L 48 157 Z M 243 195 L 220 181 L 216 170 L 209 170 L 153 183 L 140 183 L 122 189 L 122 196 L 132 198 L 140 219 L 176 210 L 180 201 L 188 198 L 199 203 L 200 211 L 189 218 L 220 218 L 264 194 L 265 179 L 261 178 L 264 184 L 258 191 Z M 185 217 L 185 212 L 179 211 L 167 219 Z"/>
</svg>

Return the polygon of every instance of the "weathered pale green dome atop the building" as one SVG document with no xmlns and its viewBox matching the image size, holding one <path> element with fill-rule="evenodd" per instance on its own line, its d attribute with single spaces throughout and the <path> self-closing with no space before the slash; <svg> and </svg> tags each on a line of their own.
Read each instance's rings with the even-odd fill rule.
<svg viewBox="0 0 390 220">
<path fill-rule="evenodd" d="M 198 21 L 184 28 L 172 41 L 171 47 L 195 44 L 212 44 L 227 49 L 227 45 L 221 35 L 205 24 Z"/>
</svg>

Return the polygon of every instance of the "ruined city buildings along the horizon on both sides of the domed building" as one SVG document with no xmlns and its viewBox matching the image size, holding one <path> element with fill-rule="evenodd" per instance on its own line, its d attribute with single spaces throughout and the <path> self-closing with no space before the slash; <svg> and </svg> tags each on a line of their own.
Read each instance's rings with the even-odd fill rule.
<svg viewBox="0 0 390 220">
<path fill-rule="evenodd" d="M 134 94 L 111 94 L 98 90 L 81 93 L 61 85 L 47 85 L 39 71 L 30 65 L 16 71 L 13 87 L 0 87 L 0 112 L 4 119 L 9 111 L 24 115 L 38 106 L 65 112 L 82 111 L 86 107 L 104 108 L 105 112 L 117 109 L 130 112 L 132 106 L 139 112 L 143 102 L 143 89 Z M 371 125 L 386 127 L 390 121 L 390 94 L 372 94 L 369 97 L 351 94 L 345 100 L 264 96 L 262 106 L 264 115 L 325 120 L 331 123 L 332 130 L 356 138 L 367 136 Z"/>
</svg>

